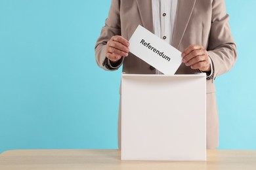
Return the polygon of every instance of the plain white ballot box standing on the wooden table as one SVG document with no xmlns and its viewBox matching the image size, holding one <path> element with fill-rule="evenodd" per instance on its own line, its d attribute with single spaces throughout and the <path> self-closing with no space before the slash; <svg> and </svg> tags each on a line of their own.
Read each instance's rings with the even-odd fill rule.
<svg viewBox="0 0 256 170">
<path fill-rule="evenodd" d="M 122 75 L 121 160 L 206 160 L 204 73 Z"/>
</svg>

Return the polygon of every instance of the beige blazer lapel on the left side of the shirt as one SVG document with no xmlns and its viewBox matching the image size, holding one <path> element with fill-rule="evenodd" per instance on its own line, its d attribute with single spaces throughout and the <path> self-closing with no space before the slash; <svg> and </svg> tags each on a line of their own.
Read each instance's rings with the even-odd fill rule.
<svg viewBox="0 0 256 170">
<path fill-rule="evenodd" d="M 131 0 L 127 0 L 131 1 Z M 142 21 L 142 26 L 154 33 L 153 26 L 153 14 L 152 14 L 152 1 L 151 0 L 137 0 L 140 18 Z"/>
</svg>

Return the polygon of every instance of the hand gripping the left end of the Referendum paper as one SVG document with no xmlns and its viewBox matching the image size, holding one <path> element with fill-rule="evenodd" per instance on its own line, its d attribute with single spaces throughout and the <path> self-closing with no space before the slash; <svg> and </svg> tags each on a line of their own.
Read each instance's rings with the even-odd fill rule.
<svg viewBox="0 0 256 170">
<path fill-rule="evenodd" d="M 129 42 L 119 36 L 113 36 L 107 43 L 106 46 L 106 57 L 112 62 L 116 62 L 121 57 L 127 57 L 129 52 Z"/>
</svg>

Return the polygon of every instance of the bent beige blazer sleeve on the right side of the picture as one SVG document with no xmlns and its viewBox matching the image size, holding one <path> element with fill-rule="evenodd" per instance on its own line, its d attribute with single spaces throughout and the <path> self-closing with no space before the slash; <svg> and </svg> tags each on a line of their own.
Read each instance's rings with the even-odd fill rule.
<svg viewBox="0 0 256 170">
<path fill-rule="evenodd" d="M 214 76 L 229 71 L 236 62 L 236 44 L 228 24 L 224 0 L 213 0 L 211 31 L 209 34 L 208 55 L 213 61 Z"/>
</svg>

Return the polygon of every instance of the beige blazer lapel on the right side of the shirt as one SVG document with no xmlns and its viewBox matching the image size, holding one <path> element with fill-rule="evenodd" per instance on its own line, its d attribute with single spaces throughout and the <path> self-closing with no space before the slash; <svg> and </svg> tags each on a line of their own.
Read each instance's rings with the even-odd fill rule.
<svg viewBox="0 0 256 170">
<path fill-rule="evenodd" d="M 175 48 L 179 49 L 182 37 L 188 26 L 190 16 L 196 4 L 196 0 L 178 0 L 175 27 L 173 31 L 173 43 Z"/>
</svg>

